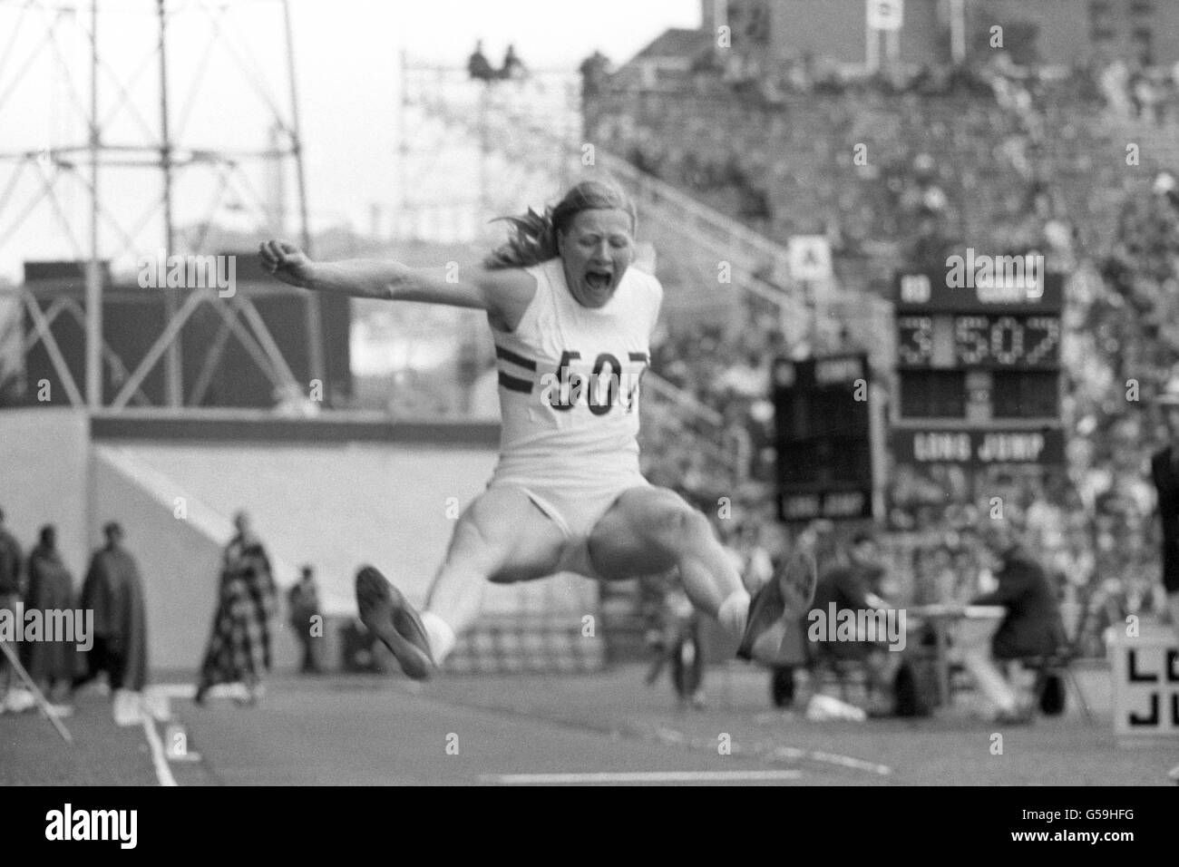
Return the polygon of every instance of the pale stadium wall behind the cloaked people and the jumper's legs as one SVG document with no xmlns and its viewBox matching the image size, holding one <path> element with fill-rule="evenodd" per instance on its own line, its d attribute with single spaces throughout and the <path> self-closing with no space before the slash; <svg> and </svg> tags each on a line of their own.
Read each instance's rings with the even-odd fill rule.
<svg viewBox="0 0 1179 867">
<path fill-rule="evenodd" d="M 363 432 L 353 441 L 343 422 L 335 433 L 329 425 L 292 434 L 279 431 L 281 422 L 248 421 L 249 429 L 210 436 L 190 434 L 200 422 L 190 427 L 187 418 L 157 419 L 145 433 L 137 420 L 116 421 L 112 429 L 110 419 L 60 408 L 0 413 L 0 506 L 24 546 L 40 525 L 55 524 L 80 589 L 103 524 L 124 525 L 144 579 L 156 679 L 196 676 L 222 547 L 238 510 L 252 515 L 281 589 L 302 564 L 315 567 L 332 639 L 355 617 L 360 564 L 381 569 L 413 602 L 426 600 L 457 511 L 485 488 L 496 459 L 494 438 L 444 426 L 408 433 L 410 426 L 400 426 L 397 441 L 384 432 L 374 441 L 369 429 L 368 441 Z M 460 643 L 452 666 L 595 668 L 600 636 L 582 635 L 582 618 L 595 610 L 595 585 L 577 576 L 492 585 L 485 618 Z M 290 669 L 297 644 L 285 605 L 274 626 L 275 665 Z M 329 641 L 322 659 L 335 668 L 337 658 Z"/>
</svg>

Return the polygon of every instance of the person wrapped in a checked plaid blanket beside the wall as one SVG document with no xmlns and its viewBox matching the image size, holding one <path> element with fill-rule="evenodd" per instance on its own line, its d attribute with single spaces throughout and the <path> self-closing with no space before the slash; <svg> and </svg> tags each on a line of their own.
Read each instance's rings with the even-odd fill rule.
<svg viewBox="0 0 1179 867">
<path fill-rule="evenodd" d="M 245 684 L 246 702 L 253 704 L 262 695 L 262 675 L 270 669 L 270 618 L 276 610 L 270 559 L 245 512 L 238 512 L 233 526 L 237 534 L 225 546 L 220 598 L 200 665 L 198 704 L 218 683 Z"/>
</svg>

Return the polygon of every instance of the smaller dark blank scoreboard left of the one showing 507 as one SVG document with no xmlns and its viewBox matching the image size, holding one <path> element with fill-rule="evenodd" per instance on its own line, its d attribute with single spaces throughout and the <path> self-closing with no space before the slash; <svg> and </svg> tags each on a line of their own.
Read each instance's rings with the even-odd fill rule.
<svg viewBox="0 0 1179 867">
<path fill-rule="evenodd" d="M 773 363 L 778 517 L 872 515 L 871 408 L 867 354 Z"/>
</svg>

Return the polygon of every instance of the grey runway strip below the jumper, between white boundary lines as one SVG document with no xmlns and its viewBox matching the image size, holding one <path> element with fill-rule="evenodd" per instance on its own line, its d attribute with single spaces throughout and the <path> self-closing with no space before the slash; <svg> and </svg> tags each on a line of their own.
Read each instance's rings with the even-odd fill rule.
<svg viewBox="0 0 1179 867">
<path fill-rule="evenodd" d="M 528 690 L 536 678 L 506 678 Z M 470 707 L 404 681 L 302 678 L 255 709 L 173 701 L 202 760 L 180 784 L 783 784 L 798 768 Z M 719 742 L 718 742 L 719 743 Z"/>
</svg>

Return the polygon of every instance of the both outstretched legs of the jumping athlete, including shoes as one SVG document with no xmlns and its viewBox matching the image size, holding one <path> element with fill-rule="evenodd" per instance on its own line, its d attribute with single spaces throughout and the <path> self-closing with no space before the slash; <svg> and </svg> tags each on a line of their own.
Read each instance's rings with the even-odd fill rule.
<svg viewBox="0 0 1179 867">
<path fill-rule="evenodd" d="M 407 674 L 427 677 L 432 665 L 426 648 L 433 663 L 440 665 L 456 636 L 479 616 L 486 582 L 553 574 L 567 544 L 561 528 L 523 491 L 488 490 L 459 519 L 420 619 L 388 582 L 368 569 L 362 573 L 370 574 L 357 577 L 361 619 L 393 650 Z M 771 626 L 782 625 L 783 593 L 777 603 L 753 605 L 751 611 L 740 576 L 707 519 L 672 491 L 637 487 L 624 492 L 599 519 L 586 544 L 591 565 L 606 580 L 677 569 L 693 606 L 742 639 L 738 656 L 743 658 L 753 658 L 755 638 L 773 639 Z M 815 590 L 814 564 L 806 572 L 801 580 L 795 570 L 771 584 L 780 585 L 785 596 L 793 584 L 809 585 L 797 593 L 809 604 Z"/>
</svg>

